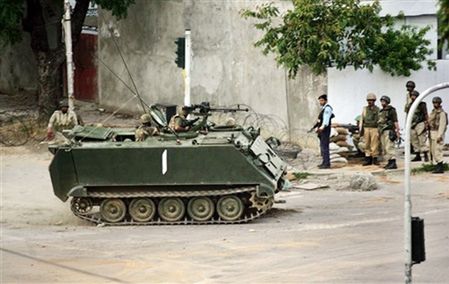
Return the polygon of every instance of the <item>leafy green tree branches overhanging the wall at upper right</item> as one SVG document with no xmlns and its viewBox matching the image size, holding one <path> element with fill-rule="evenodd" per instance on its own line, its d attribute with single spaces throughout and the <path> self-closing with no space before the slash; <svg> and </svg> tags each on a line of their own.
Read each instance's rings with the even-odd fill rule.
<svg viewBox="0 0 449 284">
<path fill-rule="evenodd" d="M 424 38 L 429 27 L 395 26 L 395 18 L 381 17 L 378 1 L 371 5 L 359 0 L 292 0 L 293 9 L 280 15 L 272 3 L 242 16 L 256 20 L 264 32 L 255 43 L 263 53 L 274 53 L 278 64 L 294 77 L 302 65 L 315 74 L 327 67 L 373 70 L 375 65 L 394 75 L 409 76 L 421 68 L 432 51 Z M 398 17 L 403 17 L 399 15 Z M 427 60 L 429 68 L 435 63 Z"/>
</svg>

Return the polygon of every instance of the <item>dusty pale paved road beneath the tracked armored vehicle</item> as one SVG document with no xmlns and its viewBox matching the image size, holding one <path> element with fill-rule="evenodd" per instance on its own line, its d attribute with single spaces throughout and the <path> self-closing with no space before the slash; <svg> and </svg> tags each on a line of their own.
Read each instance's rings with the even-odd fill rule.
<svg viewBox="0 0 449 284">
<path fill-rule="evenodd" d="M 1 283 L 403 281 L 403 185 L 372 192 L 291 191 L 246 225 L 95 227 L 51 192 L 50 155 L 1 155 Z M 416 283 L 449 279 L 449 175 L 413 178 L 427 261 Z"/>
</svg>

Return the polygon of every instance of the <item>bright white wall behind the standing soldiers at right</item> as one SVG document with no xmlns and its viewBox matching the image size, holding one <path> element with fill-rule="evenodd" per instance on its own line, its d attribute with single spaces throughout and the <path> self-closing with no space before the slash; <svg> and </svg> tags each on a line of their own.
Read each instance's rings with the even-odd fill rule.
<svg viewBox="0 0 449 284">
<path fill-rule="evenodd" d="M 354 118 L 361 114 L 362 107 L 366 104 L 366 95 L 374 92 L 378 99 L 383 95 L 391 98 L 392 106 L 398 110 L 402 129 L 405 124 L 405 83 L 408 80 L 416 83 L 416 90 L 420 93 L 435 84 L 449 82 L 449 60 L 438 60 L 437 71 L 422 69 L 413 72 L 410 77 L 391 77 L 378 68 L 373 73 L 368 70 L 354 71 L 351 68 L 342 71 L 335 68 L 328 69 L 329 103 L 334 108 L 335 121 L 354 123 Z M 449 111 L 449 89 L 434 93 L 425 100 L 429 112 L 434 96 L 442 97 L 443 107 Z M 380 105 L 379 100 L 376 103 Z M 446 143 L 449 143 L 449 131 L 446 133 Z"/>
</svg>

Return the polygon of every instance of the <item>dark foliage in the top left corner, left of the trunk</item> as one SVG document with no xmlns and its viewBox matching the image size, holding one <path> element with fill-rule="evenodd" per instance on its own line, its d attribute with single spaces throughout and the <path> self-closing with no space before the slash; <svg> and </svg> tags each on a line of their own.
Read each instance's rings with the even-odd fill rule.
<svg viewBox="0 0 449 284">
<path fill-rule="evenodd" d="M 21 39 L 23 0 L 0 0 L 0 43 L 13 44 Z"/>
</svg>

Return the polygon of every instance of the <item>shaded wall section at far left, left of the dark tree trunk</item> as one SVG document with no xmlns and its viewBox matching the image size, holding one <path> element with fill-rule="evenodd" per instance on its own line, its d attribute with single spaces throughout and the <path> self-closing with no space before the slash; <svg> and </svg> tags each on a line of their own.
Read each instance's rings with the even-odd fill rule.
<svg viewBox="0 0 449 284">
<path fill-rule="evenodd" d="M 37 91 L 37 66 L 28 33 L 13 46 L 0 46 L 0 92 Z"/>
</svg>

